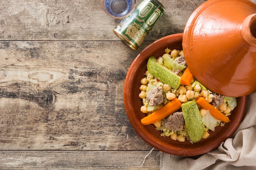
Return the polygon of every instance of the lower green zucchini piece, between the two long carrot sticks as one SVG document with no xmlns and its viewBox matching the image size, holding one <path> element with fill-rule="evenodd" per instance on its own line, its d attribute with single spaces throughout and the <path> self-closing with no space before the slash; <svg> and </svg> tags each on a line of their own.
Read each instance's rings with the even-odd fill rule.
<svg viewBox="0 0 256 170">
<path fill-rule="evenodd" d="M 204 124 L 198 105 L 195 100 L 191 100 L 183 103 L 181 108 L 191 142 L 195 143 L 200 141 L 204 134 Z"/>
</svg>

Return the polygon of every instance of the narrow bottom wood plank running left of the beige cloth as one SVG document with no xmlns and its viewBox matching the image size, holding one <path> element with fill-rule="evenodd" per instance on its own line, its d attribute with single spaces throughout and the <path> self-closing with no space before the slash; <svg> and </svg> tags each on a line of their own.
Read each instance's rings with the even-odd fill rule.
<svg viewBox="0 0 256 170">
<path fill-rule="evenodd" d="M 158 170 L 159 151 L 153 151 L 146 157 L 148 153 L 148 151 L 0 151 L 0 169 Z"/>
</svg>

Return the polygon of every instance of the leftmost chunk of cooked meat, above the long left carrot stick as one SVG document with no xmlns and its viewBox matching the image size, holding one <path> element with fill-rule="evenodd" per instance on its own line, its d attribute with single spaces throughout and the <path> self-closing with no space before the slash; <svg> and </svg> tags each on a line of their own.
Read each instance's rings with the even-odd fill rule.
<svg viewBox="0 0 256 170">
<path fill-rule="evenodd" d="M 164 96 L 162 93 L 162 87 L 152 88 L 146 97 L 149 106 L 157 106 L 164 102 Z"/>
</svg>

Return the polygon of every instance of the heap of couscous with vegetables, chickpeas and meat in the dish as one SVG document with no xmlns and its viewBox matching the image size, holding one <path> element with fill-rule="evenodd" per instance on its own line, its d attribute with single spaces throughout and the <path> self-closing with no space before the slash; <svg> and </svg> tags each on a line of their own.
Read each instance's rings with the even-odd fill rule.
<svg viewBox="0 0 256 170">
<path fill-rule="evenodd" d="M 141 112 L 147 114 L 141 123 L 154 124 L 156 130 L 162 131 L 161 136 L 171 136 L 177 141 L 187 139 L 195 143 L 206 139 L 209 130 L 214 131 L 216 126 L 223 125 L 220 121 L 230 121 L 227 116 L 236 107 L 236 98 L 218 95 L 198 82 L 186 67 L 183 51 L 165 50 L 166 53 L 158 59 L 149 57 L 148 70 L 140 82 Z M 150 92 L 152 88 L 162 88 L 164 102 L 150 104 L 151 100 L 158 99 L 157 95 Z M 177 130 L 173 128 L 177 120 L 170 121 L 169 118 L 181 112 L 181 107 L 183 126 Z"/>
</svg>

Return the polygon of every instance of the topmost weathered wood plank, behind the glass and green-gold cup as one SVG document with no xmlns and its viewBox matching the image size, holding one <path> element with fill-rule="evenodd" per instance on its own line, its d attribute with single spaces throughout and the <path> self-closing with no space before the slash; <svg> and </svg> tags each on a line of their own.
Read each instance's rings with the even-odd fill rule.
<svg viewBox="0 0 256 170">
<path fill-rule="evenodd" d="M 141 0 L 137 0 L 137 4 Z M 161 0 L 166 8 L 146 41 L 182 33 L 189 15 L 205 0 Z M 111 18 L 96 0 L 12 0 L 0 4 L 0 40 L 119 41 Z"/>
</svg>

